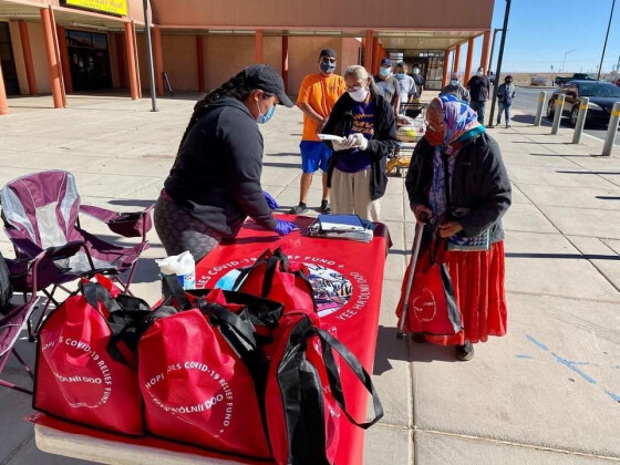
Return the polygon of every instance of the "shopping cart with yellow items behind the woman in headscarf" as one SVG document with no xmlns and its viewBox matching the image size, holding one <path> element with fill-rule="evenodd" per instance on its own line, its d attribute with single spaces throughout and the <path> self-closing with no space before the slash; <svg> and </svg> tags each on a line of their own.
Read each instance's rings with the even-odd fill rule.
<svg viewBox="0 0 620 465">
<path fill-rule="evenodd" d="M 401 115 L 396 117 L 396 138 L 399 149 L 388 161 L 389 174 L 403 175 L 411 163 L 411 155 L 401 155 L 403 151 L 411 153 L 413 147 L 422 138 L 426 131 L 426 103 L 403 103 Z"/>
</svg>

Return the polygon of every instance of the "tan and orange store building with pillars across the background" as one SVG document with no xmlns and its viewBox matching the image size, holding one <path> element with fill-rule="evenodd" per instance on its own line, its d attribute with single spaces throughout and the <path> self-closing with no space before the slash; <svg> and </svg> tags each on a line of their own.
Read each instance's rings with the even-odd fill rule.
<svg viewBox="0 0 620 465">
<path fill-rule="evenodd" d="M 0 114 L 12 95 L 149 91 L 141 0 L 0 0 Z M 149 0 L 156 92 L 205 92 L 252 63 L 269 63 L 296 94 L 338 52 L 337 72 L 384 56 L 416 64 L 427 89 L 441 89 L 467 44 L 466 78 L 488 68 L 494 0 Z M 474 40 L 483 37 L 480 62 Z M 166 89 L 168 87 L 168 89 Z"/>
</svg>

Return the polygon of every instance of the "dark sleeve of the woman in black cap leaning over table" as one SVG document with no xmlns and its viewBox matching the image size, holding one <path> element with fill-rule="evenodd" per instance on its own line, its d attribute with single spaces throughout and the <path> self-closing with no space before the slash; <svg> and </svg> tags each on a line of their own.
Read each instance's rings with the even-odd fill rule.
<svg viewBox="0 0 620 465">
<path fill-rule="evenodd" d="M 232 198 L 260 226 L 275 229 L 276 220 L 260 187 L 264 143 L 256 123 L 248 117 L 221 117 L 217 131 L 227 152 L 226 178 Z"/>
</svg>

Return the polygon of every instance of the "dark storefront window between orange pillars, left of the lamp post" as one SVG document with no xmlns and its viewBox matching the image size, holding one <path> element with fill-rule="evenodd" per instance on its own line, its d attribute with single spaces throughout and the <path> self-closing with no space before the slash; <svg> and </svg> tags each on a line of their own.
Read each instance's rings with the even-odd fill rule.
<svg viewBox="0 0 620 465">
<path fill-rule="evenodd" d="M 66 46 L 73 90 L 112 89 L 106 34 L 66 30 Z"/>
</svg>

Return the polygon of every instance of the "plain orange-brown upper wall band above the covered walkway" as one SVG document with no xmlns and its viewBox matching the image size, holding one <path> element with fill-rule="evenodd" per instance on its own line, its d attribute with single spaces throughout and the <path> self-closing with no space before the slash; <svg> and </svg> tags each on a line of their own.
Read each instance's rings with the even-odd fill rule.
<svg viewBox="0 0 620 465">
<path fill-rule="evenodd" d="M 152 0 L 158 24 L 213 28 L 488 29 L 494 0 Z M 475 8 L 472 6 L 475 4 Z"/>
</svg>

